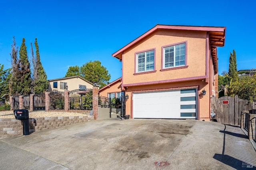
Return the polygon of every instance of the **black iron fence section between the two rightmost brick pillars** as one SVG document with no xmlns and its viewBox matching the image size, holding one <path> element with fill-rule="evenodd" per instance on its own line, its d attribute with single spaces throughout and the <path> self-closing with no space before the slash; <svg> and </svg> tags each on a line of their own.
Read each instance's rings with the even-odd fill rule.
<svg viewBox="0 0 256 170">
<path fill-rule="evenodd" d="M 68 95 L 70 110 L 92 110 L 92 89 L 77 89 Z"/>
</svg>

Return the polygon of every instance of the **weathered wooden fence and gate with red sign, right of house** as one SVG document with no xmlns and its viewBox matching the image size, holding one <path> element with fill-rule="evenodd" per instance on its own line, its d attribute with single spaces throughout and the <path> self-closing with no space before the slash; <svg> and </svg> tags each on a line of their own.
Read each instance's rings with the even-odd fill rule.
<svg viewBox="0 0 256 170">
<path fill-rule="evenodd" d="M 256 114 L 256 102 L 238 99 L 238 96 L 224 96 L 211 98 L 211 107 L 216 114 L 215 120 L 228 125 L 241 125 L 241 112 L 249 111 Z"/>
</svg>

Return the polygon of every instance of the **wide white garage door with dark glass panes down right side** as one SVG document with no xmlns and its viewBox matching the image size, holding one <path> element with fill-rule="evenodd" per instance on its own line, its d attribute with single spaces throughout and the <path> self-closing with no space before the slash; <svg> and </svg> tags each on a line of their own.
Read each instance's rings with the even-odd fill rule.
<svg viewBox="0 0 256 170">
<path fill-rule="evenodd" d="M 196 119 L 196 89 L 134 93 L 133 117 L 156 119 Z"/>
</svg>

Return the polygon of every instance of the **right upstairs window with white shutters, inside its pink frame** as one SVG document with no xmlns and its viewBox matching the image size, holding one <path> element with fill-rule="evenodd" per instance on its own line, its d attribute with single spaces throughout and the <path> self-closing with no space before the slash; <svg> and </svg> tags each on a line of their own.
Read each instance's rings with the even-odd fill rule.
<svg viewBox="0 0 256 170">
<path fill-rule="evenodd" d="M 164 68 L 184 66 L 185 58 L 186 43 L 164 48 Z"/>
</svg>

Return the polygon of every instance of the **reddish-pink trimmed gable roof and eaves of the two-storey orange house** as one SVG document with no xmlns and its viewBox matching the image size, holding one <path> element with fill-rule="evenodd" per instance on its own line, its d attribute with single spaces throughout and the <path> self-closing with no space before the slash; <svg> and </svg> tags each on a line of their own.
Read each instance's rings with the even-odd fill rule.
<svg viewBox="0 0 256 170">
<path fill-rule="evenodd" d="M 167 29 L 167 30 L 191 30 L 191 31 L 205 31 L 208 32 L 208 38 L 210 40 L 210 49 L 212 53 L 212 61 L 214 63 L 214 71 L 218 72 L 217 68 L 217 46 L 223 47 L 225 43 L 226 37 L 226 27 L 211 27 L 211 26 L 174 26 L 174 25 L 160 25 L 157 24 L 146 33 L 142 34 L 140 37 L 136 38 L 132 42 L 128 43 L 118 51 L 112 54 L 113 57 L 117 59 L 122 59 L 122 53 L 124 50 L 128 49 L 129 47 L 136 45 L 138 42 L 144 40 L 147 36 L 150 36 L 154 32 L 160 29 Z"/>
</svg>

